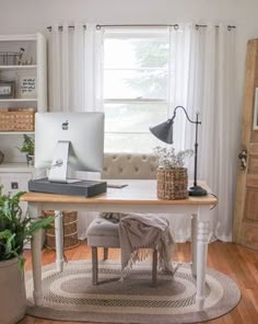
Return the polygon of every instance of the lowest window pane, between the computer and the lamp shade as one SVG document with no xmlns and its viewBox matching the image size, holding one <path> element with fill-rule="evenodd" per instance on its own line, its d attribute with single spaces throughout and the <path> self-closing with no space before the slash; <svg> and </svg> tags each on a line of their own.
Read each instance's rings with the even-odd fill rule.
<svg viewBox="0 0 258 324">
<path fill-rule="evenodd" d="M 162 142 L 150 134 L 106 134 L 105 152 L 153 153 Z"/>
</svg>

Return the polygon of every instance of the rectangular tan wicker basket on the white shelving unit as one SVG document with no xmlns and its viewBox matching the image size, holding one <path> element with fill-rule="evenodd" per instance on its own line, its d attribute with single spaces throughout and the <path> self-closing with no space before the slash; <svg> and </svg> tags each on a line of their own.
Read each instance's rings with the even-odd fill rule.
<svg viewBox="0 0 258 324">
<path fill-rule="evenodd" d="M 1 108 L 0 131 L 33 131 L 34 108 Z"/>
</svg>

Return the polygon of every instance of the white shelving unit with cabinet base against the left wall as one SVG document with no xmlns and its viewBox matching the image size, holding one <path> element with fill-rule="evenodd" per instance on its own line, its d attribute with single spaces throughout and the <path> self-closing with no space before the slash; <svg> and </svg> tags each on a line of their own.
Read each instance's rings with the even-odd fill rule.
<svg viewBox="0 0 258 324">
<path fill-rule="evenodd" d="M 35 108 L 36 112 L 47 111 L 47 44 L 40 34 L 32 35 L 0 35 L 0 51 L 15 51 L 24 48 L 22 65 L 3 65 L 0 60 L 0 81 L 14 81 L 14 97 L 1 99 L 2 108 Z M 27 62 L 24 60 L 26 59 Z M 23 65 L 24 63 L 24 65 Z M 24 97 L 21 94 L 21 79 L 32 77 L 36 79 L 35 96 Z M 26 190 L 27 181 L 35 177 L 35 170 L 26 165 L 25 155 L 16 147 L 23 140 L 23 134 L 34 135 L 34 131 L 1 131 L 0 150 L 4 153 L 4 161 L 0 164 L 0 184 L 5 192 L 15 193 Z"/>
</svg>

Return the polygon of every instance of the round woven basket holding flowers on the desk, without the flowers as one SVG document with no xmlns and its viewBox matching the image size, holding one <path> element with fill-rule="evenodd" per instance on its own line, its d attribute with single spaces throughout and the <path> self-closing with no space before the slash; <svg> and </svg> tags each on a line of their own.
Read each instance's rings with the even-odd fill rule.
<svg viewBox="0 0 258 324">
<path fill-rule="evenodd" d="M 186 167 L 171 170 L 157 169 L 157 198 L 186 199 L 188 198 L 188 175 Z"/>
</svg>

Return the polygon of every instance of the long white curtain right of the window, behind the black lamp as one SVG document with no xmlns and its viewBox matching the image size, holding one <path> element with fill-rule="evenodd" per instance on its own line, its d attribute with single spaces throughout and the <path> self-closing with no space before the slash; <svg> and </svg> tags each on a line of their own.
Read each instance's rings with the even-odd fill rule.
<svg viewBox="0 0 258 324">
<path fill-rule="evenodd" d="M 198 178 L 208 182 L 219 198 L 212 210 L 211 235 L 232 240 L 232 219 L 236 170 L 236 126 L 234 70 L 235 30 L 224 25 L 183 25 L 171 28 L 171 114 L 175 106 L 186 107 L 195 120 L 200 113 L 198 147 Z M 175 146 L 194 149 L 195 125 L 177 111 Z M 194 178 L 194 158 L 188 163 Z M 176 240 L 190 239 L 189 217 L 171 219 Z"/>
</svg>

